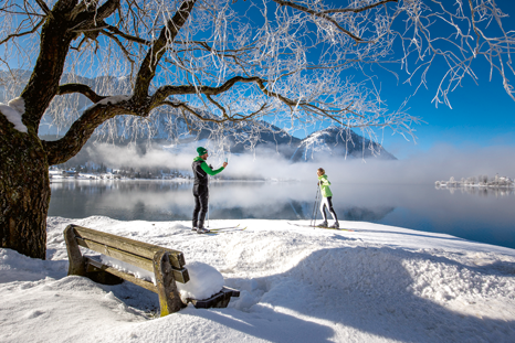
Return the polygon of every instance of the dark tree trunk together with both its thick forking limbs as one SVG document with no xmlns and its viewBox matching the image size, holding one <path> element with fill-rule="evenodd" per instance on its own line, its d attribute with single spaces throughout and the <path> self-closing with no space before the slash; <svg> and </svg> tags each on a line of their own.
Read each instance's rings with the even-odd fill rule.
<svg viewBox="0 0 515 343">
<path fill-rule="evenodd" d="M 138 74 L 136 100 L 97 104 L 90 107 L 59 141 L 42 142 L 38 128 L 53 97 L 66 93 L 82 93 L 85 85 L 60 87 L 61 76 L 71 42 L 84 31 L 95 37 L 103 20 L 115 12 L 119 0 L 107 0 L 102 6 L 78 6 L 77 0 L 57 0 L 41 29 L 40 54 L 31 79 L 20 95 L 23 99 L 22 121 L 28 133 L 14 128 L 0 114 L 0 244 L 21 254 L 45 258 L 46 215 L 50 205 L 49 163 L 63 163 L 75 156 L 93 131 L 105 120 L 117 115 L 147 116 L 153 109 L 148 88 L 165 53 L 185 24 L 196 0 L 183 0 L 180 9 L 154 42 Z M 44 2 L 41 2 L 41 4 Z M 84 3 L 83 3 L 84 4 Z M 44 6 L 43 6 L 44 8 Z M 76 11 L 75 11 L 76 10 Z M 81 92 L 82 89 L 82 92 Z M 87 92 L 86 92 L 87 93 Z M 94 93 L 91 90 L 91 93 Z M 166 97 L 165 97 L 166 98 Z M 161 101 L 165 99 L 160 99 Z M 95 100 L 97 103 L 98 96 Z M 19 104 L 20 105 L 20 104 Z M 19 108 L 18 108 L 19 109 Z"/>
</svg>

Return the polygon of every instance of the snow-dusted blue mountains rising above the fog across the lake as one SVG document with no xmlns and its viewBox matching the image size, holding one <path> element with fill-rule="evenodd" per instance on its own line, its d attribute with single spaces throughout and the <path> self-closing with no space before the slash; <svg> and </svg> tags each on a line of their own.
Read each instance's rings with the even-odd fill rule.
<svg viewBox="0 0 515 343">
<path fill-rule="evenodd" d="M 208 118 L 213 117 L 210 114 L 201 114 Z M 122 117 L 117 122 L 117 130 L 122 133 L 118 137 L 132 139 L 134 127 L 125 127 Z M 147 133 L 151 131 L 154 146 L 169 146 L 172 138 L 177 139 L 176 142 L 179 146 L 200 140 L 219 140 L 223 141 L 223 149 L 231 153 L 245 153 L 254 150 L 264 153 L 273 151 L 292 162 L 316 161 L 327 158 L 397 160 L 381 144 L 364 138 L 353 130 L 337 127 L 313 132 L 301 140 L 263 120 L 231 124 L 221 128 L 208 122 L 196 128 L 195 125 L 193 127 L 188 126 L 181 115 L 162 112 L 154 116 L 151 122 L 151 128 L 141 130 L 137 137 L 147 140 Z M 191 128 L 193 131 L 189 131 Z"/>
</svg>

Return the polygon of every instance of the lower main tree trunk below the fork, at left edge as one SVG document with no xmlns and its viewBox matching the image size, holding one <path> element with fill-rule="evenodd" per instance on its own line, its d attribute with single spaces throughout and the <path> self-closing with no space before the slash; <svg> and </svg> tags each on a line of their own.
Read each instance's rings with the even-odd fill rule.
<svg viewBox="0 0 515 343">
<path fill-rule="evenodd" d="M 30 129 L 20 132 L 0 114 L 0 244 L 34 258 L 45 258 L 50 204 L 49 164 Z"/>
</svg>

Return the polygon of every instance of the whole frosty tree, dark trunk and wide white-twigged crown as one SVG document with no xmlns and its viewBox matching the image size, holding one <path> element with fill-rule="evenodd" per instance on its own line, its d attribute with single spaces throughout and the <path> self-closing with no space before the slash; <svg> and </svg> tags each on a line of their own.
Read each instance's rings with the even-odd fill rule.
<svg viewBox="0 0 515 343">
<path fill-rule="evenodd" d="M 402 69 L 416 89 L 444 65 L 431 76 L 446 103 L 479 58 L 514 98 L 504 17 L 493 0 L 1 0 L 1 246 L 45 257 L 49 165 L 115 117 L 136 127 L 169 108 L 214 131 L 265 119 L 410 135 L 417 118 L 385 107 L 375 72 Z M 41 140 L 43 116 L 65 136 Z"/>
</svg>

